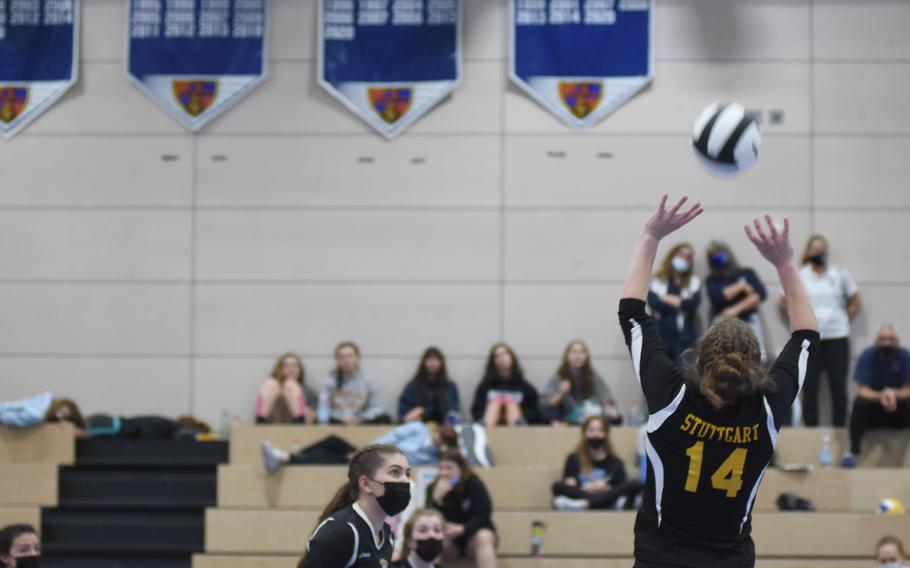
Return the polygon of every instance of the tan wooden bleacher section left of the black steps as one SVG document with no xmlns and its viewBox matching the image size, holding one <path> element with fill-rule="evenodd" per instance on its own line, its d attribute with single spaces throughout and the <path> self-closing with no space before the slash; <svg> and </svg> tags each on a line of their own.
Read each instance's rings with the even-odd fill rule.
<svg viewBox="0 0 910 568">
<path fill-rule="evenodd" d="M 40 527 L 41 508 L 57 505 L 59 466 L 75 459 L 76 435 L 69 424 L 0 427 L 0 527 Z"/>
</svg>

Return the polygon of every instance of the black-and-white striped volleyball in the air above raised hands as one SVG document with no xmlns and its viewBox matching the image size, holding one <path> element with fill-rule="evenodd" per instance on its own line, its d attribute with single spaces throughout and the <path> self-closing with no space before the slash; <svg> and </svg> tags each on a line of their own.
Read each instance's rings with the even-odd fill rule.
<svg viewBox="0 0 910 568">
<path fill-rule="evenodd" d="M 739 173 L 758 159 L 761 131 L 743 105 L 711 103 L 695 121 L 692 147 L 711 170 Z"/>
</svg>

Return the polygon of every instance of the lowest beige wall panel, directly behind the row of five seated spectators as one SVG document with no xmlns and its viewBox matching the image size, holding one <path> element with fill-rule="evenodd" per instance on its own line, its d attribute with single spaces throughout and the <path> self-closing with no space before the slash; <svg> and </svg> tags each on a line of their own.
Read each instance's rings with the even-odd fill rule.
<svg viewBox="0 0 910 568">
<path fill-rule="evenodd" d="M 353 339 L 356 341 L 358 337 L 353 336 Z M 420 354 L 428 345 L 415 343 L 414 353 L 410 357 L 387 358 L 367 354 L 363 359 L 364 371 L 376 381 L 383 405 L 396 419 L 398 395 L 413 376 Z M 310 351 L 307 345 L 298 342 L 289 342 L 287 348 Z M 271 372 L 276 358 L 277 355 L 260 358 L 197 358 L 193 385 L 196 412 L 203 416 L 219 417 L 223 410 L 228 409 L 239 416 L 243 423 L 253 422 L 259 387 Z M 446 362 L 450 376 L 458 384 L 464 412 L 470 410 L 474 389 L 483 373 L 485 362 L 479 357 L 450 357 Z M 335 360 L 330 351 L 307 356 L 304 361 L 307 387 L 318 394 L 334 365 Z M 212 393 L 218 393 L 218 396 L 212 396 Z"/>
</svg>

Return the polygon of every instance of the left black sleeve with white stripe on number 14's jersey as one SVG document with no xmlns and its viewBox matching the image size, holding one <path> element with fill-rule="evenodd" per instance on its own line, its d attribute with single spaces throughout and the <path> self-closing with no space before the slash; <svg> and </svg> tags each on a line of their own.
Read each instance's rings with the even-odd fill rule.
<svg viewBox="0 0 910 568">
<path fill-rule="evenodd" d="M 632 355 L 632 368 L 645 395 L 648 412 L 654 414 L 669 406 L 679 393 L 684 382 L 682 371 L 667 356 L 657 325 L 645 312 L 643 301 L 620 300 L 619 325 Z"/>
</svg>

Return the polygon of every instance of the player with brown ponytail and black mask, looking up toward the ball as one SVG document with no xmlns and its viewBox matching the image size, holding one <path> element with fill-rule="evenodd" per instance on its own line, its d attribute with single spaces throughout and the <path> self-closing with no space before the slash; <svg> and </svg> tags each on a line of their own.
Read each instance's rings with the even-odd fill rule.
<svg viewBox="0 0 910 568">
<path fill-rule="evenodd" d="M 411 467 L 394 446 L 363 448 L 348 481 L 319 517 L 298 568 L 389 568 L 395 548 L 387 517 L 411 500 Z"/>
</svg>

